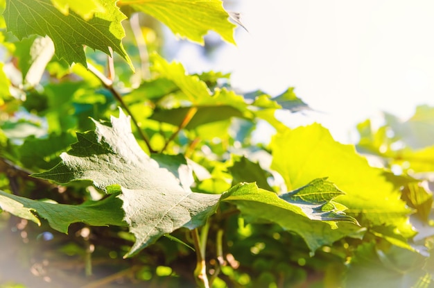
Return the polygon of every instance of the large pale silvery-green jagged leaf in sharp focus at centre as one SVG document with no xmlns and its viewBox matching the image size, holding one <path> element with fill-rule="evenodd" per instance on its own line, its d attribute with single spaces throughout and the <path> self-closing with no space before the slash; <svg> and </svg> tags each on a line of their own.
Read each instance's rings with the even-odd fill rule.
<svg viewBox="0 0 434 288">
<path fill-rule="evenodd" d="M 121 192 L 125 221 L 136 237 L 125 256 L 177 228 L 196 228 L 214 213 L 220 195 L 191 192 L 193 174 L 182 156 L 150 158 L 123 112 L 111 123 L 94 122 L 96 130 L 77 133 L 78 142 L 60 155 L 60 164 L 33 176 L 58 183 L 88 179 L 107 192 Z"/>
</svg>

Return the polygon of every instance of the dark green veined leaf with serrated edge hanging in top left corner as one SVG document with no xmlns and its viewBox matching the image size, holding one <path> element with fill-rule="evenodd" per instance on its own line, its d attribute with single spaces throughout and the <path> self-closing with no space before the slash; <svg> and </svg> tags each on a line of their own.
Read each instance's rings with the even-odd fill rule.
<svg viewBox="0 0 434 288">
<path fill-rule="evenodd" d="M 87 67 L 83 49 L 87 45 L 107 55 L 111 47 L 134 69 L 121 43 L 125 36 L 121 21 L 125 15 L 116 7 L 115 0 L 101 1 L 101 5 L 105 12 L 95 12 L 86 21 L 75 12 L 63 15 L 50 0 L 7 0 L 3 16 L 8 31 L 20 40 L 33 34 L 48 35 L 53 40 L 55 55 L 70 65 L 76 62 Z"/>
</svg>

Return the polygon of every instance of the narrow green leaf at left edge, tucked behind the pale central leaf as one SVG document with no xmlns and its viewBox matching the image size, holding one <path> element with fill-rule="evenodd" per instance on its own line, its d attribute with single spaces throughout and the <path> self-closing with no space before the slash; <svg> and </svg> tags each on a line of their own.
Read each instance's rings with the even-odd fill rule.
<svg viewBox="0 0 434 288">
<path fill-rule="evenodd" d="M 83 222 L 91 226 L 126 226 L 121 210 L 122 201 L 112 195 L 98 202 L 82 205 L 65 205 L 35 201 L 0 191 L 1 209 L 15 216 L 31 220 L 40 225 L 40 220 L 32 212 L 49 221 L 50 226 L 67 233 L 71 223 Z"/>
</svg>

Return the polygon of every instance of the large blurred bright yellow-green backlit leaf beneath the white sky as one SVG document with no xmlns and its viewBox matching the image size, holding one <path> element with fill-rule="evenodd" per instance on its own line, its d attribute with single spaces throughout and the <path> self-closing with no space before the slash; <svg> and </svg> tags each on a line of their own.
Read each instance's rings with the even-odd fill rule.
<svg viewBox="0 0 434 288">
<path fill-rule="evenodd" d="M 278 133 L 271 146 L 271 167 L 283 176 L 288 189 L 329 177 L 345 192 L 336 201 L 348 207 L 347 214 L 375 226 L 406 226 L 411 210 L 394 185 L 385 180 L 383 170 L 370 167 L 354 146 L 334 141 L 319 124 Z"/>
</svg>

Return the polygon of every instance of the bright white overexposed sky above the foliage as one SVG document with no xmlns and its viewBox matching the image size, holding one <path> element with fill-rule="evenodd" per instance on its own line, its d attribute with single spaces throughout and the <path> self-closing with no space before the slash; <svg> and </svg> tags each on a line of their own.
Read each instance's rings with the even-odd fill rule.
<svg viewBox="0 0 434 288">
<path fill-rule="evenodd" d="M 349 130 L 381 110 L 405 118 L 434 105 L 434 1 L 232 2 L 249 33 L 238 28 L 238 46 L 224 44 L 211 68 L 232 71 L 245 91 L 293 86 L 322 111 L 280 115 L 291 126 L 318 121 L 349 142 Z"/>
</svg>

